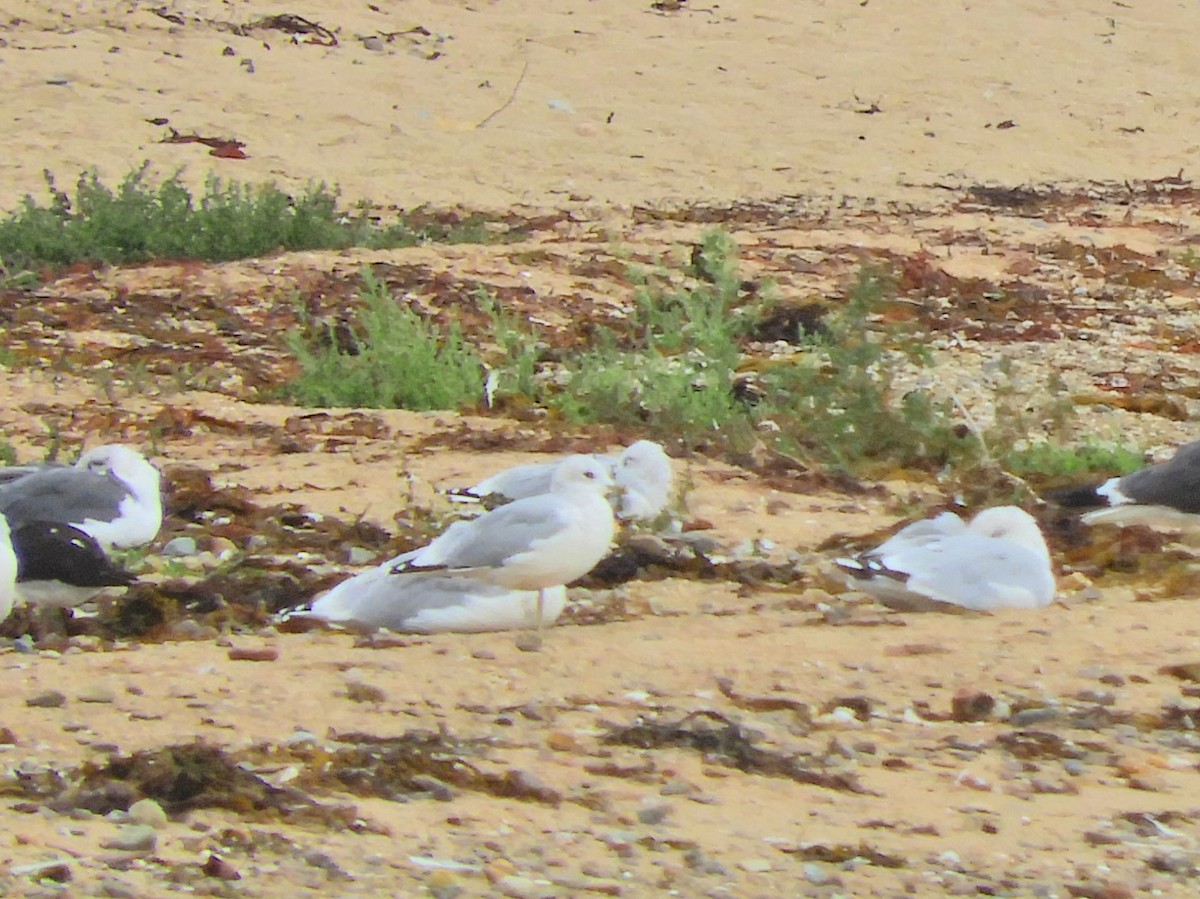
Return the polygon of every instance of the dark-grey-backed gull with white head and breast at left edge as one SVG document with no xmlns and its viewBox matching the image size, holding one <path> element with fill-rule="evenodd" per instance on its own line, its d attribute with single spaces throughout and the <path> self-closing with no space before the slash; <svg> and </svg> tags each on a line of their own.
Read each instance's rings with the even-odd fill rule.
<svg viewBox="0 0 1200 899">
<path fill-rule="evenodd" d="M 140 546 L 162 527 L 158 469 L 128 446 L 96 446 L 73 466 L 0 478 L 0 513 L 14 531 L 52 521 L 73 525 L 106 550 Z"/>
</svg>

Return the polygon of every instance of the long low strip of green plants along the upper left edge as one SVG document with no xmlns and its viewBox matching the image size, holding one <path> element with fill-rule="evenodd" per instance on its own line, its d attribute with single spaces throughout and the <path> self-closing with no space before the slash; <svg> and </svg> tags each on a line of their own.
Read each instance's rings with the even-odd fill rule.
<svg viewBox="0 0 1200 899">
<path fill-rule="evenodd" d="M 148 167 L 127 174 L 115 190 L 95 173 L 83 174 L 74 196 L 46 173 L 49 203 L 26 196 L 0 220 L 0 280 L 28 281 L 31 270 L 77 262 L 241 259 L 281 250 L 385 248 L 425 241 L 481 242 L 486 223 L 412 224 L 401 217 L 382 226 L 365 208 L 338 208 L 336 191 L 310 185 L 290 197 L 275 185 L 251 186 L 210 176 L 193 197 L 176 173 L 154 184 Z"/>
</svg>

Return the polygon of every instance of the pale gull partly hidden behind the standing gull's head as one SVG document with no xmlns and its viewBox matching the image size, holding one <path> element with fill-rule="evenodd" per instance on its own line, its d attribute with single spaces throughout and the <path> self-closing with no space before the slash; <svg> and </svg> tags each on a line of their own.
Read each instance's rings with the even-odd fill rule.
<svg viewBox="0 0 1200 899">
<path fill-rule="evenodd" d="M 638 440 L 616 456 L 593 455 L 608 467 L 618 492 L 614 507 L 618 517 L 648 521 L 658 517 L 671 498 L 671 457 L 653 440 Z M 478 503 L 487 497 L 524 499 L 550 492 L 557 468 L 565 460 L 530 462 L 506 468 L 485 478 L 472 487 L 451 490 L 448 496 L 456 502 Z"/>
</svg>

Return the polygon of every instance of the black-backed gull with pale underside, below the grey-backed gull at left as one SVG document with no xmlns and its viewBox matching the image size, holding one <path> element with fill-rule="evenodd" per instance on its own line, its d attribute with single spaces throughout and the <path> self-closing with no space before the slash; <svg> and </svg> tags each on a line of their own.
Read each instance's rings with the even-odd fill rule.
<svg viewBox="0 0 1200 899">
<path fill-rule="evenodd" d="M 17 555 L 17 595 L 29 605 L 67 609 L 106 587 L 128 587 L 136 580 L 86 532 L 71 525 L 29 522 L 12 532 L 11 541 Z"/>
</svg>

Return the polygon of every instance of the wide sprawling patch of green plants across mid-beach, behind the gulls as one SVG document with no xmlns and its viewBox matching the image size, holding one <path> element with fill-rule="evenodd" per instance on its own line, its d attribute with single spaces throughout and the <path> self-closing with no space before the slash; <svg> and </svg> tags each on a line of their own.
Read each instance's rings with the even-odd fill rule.
<svg viewBox="0 0 1200 899">
<path fill-rule="evenodd" d="M 953 471 L 964 483 L 985 484 L 984 471 L 1009 472 L 1021 490 L 1027 477 L 1046 484 L 1141 462 L 1090 444 L 1027 448 L 1026 436 L 1046 422 L 1070 433 L 1074 409 L 1061 384 L 1048 385 L 1037 408 L 997 389 L 997 424 L 986 432 L 950 398 L 901 386 L 930 354 L 901 328 L 877 324 L 889 290 L 878 272 L 860 272 L 818 332 L 798 335 L 794 353 L 768 361 L 749 356 L 745 344 L 770 312 L 773 290 L 743 284 L 728 235 L 706 235 L 682 271 L 631 269 L 629 277 L 630 316 L 565 350 L 478 288 L 475 302 L 492 328 L 476 350 L 456 329 L 443 334 L 397 304 L 367 274 L 349 341 L 343 334 L 340 346 L 329 325 L 289 337 L 302 371 L 289 394 L 306 404 L 430 409 L 478 406 L 486 390 L 504 408 L 535 406 L 691 446 L 744 453 L 761 443 L 856 475 Z"/>
</svg>

